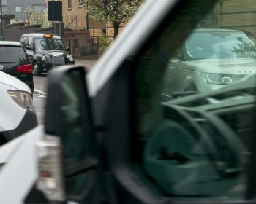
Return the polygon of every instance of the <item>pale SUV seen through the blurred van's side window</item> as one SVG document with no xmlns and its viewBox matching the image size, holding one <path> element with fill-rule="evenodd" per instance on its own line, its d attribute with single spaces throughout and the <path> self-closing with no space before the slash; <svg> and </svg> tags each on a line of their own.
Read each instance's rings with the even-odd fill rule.
<svg viewBox="0 0 256 204">
<path fill-rule="evenodd" d="M 195 29 L 170 60 L 165 93 L 205 92 L 255 73 L 256 40 L 244 31 Z"/>
</svg>

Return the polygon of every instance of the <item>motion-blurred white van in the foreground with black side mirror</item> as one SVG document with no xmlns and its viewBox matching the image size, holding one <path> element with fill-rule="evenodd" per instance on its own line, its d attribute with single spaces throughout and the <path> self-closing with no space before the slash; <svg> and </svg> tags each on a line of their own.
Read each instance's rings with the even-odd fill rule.
<svg viewBox="0 0 256 204">
<path fill-rule="evenodd" d="M 244 5 L 147 0 L 86 77 L 53 69 L 44 127 L 0 148 L 1 203 L 255 203 L 255 77 L 161 100 L 193 29 L 247 28 Z"/>
</svg>

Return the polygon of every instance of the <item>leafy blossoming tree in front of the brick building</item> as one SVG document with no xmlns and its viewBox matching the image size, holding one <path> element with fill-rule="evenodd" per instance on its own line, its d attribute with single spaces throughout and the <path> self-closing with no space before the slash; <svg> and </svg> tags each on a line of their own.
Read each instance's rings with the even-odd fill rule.
<svg viewBox="0 0 256 204">
<path fill-rule="evenodd" d="M 114 38 L 121 23 L 127 23 L 140 7 L 141 0 L 87 0 L 86 12 L 99 23 L 112 23 Z"/>
</svg>

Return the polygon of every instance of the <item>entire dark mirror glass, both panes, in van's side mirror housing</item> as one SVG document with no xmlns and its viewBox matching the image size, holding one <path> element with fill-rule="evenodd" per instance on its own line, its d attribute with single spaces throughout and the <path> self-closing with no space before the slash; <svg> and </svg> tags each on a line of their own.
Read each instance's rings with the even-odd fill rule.
<svg viewBox="0 0 256 204">
<path fill-rule="evenodd" d="M 63 165 L 67 195 L 80 195 L 91 178 L 86 169 L 91 158 L 91 127 L 87 105 L 85 77 L 80 71 L 69 71 L 60 81 L 59 118 L 63 148 Z M 86 111 L 87 110 L 87 111 Z M 87 113 L 87 114 L 86 114 Z"/>
</svg>

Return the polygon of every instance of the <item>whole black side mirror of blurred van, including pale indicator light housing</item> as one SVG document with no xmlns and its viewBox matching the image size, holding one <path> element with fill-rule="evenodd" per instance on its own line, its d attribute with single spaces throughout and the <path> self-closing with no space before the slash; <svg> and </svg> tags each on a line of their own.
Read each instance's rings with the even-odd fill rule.
<svg viewBox="0 0 256 204">
<path fill-rule="evenodd" d="M 62 66 L 49 76 L 45 136 L 37 144 L 37 187 L 54 202 L 78 195 L 89 179 L 79 175 L 96 166 L 91 159 L 93 128 L 84 70 Z"/>
</svg>

